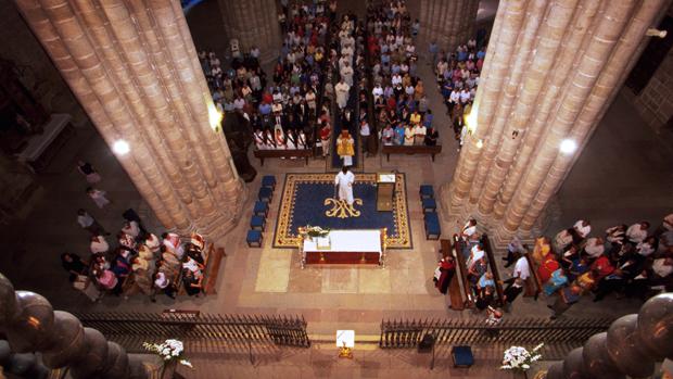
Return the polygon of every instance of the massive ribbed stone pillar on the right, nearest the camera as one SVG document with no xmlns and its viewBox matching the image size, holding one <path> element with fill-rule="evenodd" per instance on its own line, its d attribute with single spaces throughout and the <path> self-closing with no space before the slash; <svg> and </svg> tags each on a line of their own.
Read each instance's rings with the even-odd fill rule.
<svg viewBox="0 0 673 379">
<path fill-rule="evenodd" d="M 526 237 L 647 43 L 669 0 L 500 1 L 471 134 L 442 200 L 496 237 Z M 570 143 L 570 144 L 572 144 Z"/>
</svg>

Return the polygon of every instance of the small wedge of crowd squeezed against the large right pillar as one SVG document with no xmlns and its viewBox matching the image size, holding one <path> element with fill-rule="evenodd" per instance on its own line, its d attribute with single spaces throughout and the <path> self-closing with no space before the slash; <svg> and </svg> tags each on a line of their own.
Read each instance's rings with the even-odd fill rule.
<svg viewBox="0 0 673 379">
<path fill-rule="evenodd" d="M 458 150 L 462 147 L 468 132 L 465 115 L 470 113 L 477 88 L 480 84 L 480 73 L 486 56 L 485 48 L 477 48 L 477 41 L 470 39 L 458 46 L 456 51 L 445 53 L 439 50 L 436 42 L 431 42 L 430 59 L 435 67 L 437 86 L 446 104 L 450 117 Z"/>
</svg>

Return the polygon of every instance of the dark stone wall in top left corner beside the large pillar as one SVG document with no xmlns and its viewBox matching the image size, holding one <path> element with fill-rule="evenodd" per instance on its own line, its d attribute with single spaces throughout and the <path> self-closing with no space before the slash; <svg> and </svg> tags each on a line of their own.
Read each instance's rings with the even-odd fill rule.
<svg viewBox="0 0 673 379">
<path fill-rule="evenodd" d="M 0 56 L 13 61 L 21 80 L 49 113 L 67 113 L 73 125 L 90 126 L 89 118 L 61 74 L 24 22 L 12 0 L 0 0 Z"/>
</svg>

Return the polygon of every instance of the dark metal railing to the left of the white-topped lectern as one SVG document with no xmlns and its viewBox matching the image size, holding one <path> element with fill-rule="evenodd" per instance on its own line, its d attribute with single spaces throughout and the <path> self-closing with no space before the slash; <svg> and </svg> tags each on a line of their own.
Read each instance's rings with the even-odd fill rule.
<svg viewBox="0 0 673 379">
<path fill-rule="evenodd" d="M 309 348 L 303 316 L 208 315 L 198 311 L 153 313 L 96 313 L 77 315 L 85 327 L 106 337 L 177 338 L 186 341 L 272 343 Z"/>
</svg>

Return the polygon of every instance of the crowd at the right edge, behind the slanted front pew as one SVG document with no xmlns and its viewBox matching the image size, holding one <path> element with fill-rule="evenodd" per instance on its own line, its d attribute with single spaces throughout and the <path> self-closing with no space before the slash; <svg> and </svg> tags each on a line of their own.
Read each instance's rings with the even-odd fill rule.
<svg viewBox="0 0 673 379">
<path fill-rule="evenodd" d="M 656 230 L 638 222 L 594 235 L 589 220 L 581 219 L 554 240 L 537 238 L 531 256 L 545 294 L 558 294 L 553 317 L 587 294 L 594 302 L 613 292 L 645 300 L 673 288 L 673 214 Z"/>
</svg>

